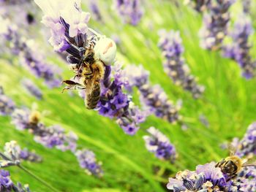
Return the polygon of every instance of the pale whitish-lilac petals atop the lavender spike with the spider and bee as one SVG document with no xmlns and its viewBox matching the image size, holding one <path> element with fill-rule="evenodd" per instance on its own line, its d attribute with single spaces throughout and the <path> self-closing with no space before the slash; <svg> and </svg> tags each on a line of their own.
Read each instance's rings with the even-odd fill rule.
<svg viewBox="0 0 256 192">
<path fill-rule="evenodd" d="M 45 14 L 42 18 L 42 23 L 50 28 L 51 37 L 49 42 L 54 50 L 62 52 L 69 48 L 69 43 L 65 36 L 75 37 L 77 34 L 87 33 L 88 27 L 86 23 L 89 22 L 90 14 L 89 12 L 81 11 L 80 0 L 34 1 Z M 65 21 L 65 25 L 63 25 L 61 18 Z M 65 34 L 67 28 L 69 28 L 68 34 Z"/>
</svg>

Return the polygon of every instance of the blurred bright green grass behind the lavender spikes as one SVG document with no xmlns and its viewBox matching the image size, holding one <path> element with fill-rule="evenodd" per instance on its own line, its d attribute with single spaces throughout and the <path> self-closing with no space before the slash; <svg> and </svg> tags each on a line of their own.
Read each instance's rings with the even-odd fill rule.
<svg viewBox="0 0 256 192">
<path fill-rule="evenodd" d="M 87 1 L 83 2 L 83 10 L 89 11 Z M 124 64 L 142 64 L 148 69 L 152 84 L 160 84 L 173 101 L 182 99 L 181 115 L 188 128 L 184 131 L 178 125 L 172 125 L 165 120 L 148 117 L 141 125 L 138 134 L 131 137 L 121 130 L 114 120 L 102 117 L 96 111 L 86 110 L 83 99 L 75 94 L 61 93 L 60 88 L 49 89 L 43 80 L 35 78 L 27 69 L 20 66 L 18 58 L 12 55 L 1 55 L 0 85 L 4 87 L 18 106 L 31 107 L 38 105 L 38 110 L 46 111 L 42 122 L 47 125 L 59 124 L 65 129 L 78 134 L 78 144 L 93 150 L 97 159 L 102 161 L 104 177 L 97 178 L 87 175 L 80 168 L 77 159 L 71 152 L 61 152 L 48 149 L 37 144 L 27 131 L 17 131 L 10 124 L 10 117 L 0 117 L 0 144 L 17 140 L 22 147 L 42 155 L 41 164 L 23 162 L 23 166 L 34 172 L 59 191 L 84 192 L 118 192 L 118 191 L 166 191 L 167 178 L 174 176 L 182 169 L 194 170 L 197 164 L 218 161 L 227 155 L 227 151 L 219 146 L 233 137 L 242 137 L 249 123 L 255 120 L 256 112 L 256 80 L 245 80 L 241 77 L 241 69 L 236 62 L 222 58 L 218 52 L 203 50 L 199 46 L 198 31 L 202 25 L 202 15 L 191 7 L 174 1 L 148 0 L 143 1 L 145 15 L 138 26 L 122 23 L 111 7 L 112 1 L 99 0 L 99 9 L 103 21 L 91 18 L 89 26 L 97 29 L 108 37 L 118 35 L 121 45 L 118 47 L 117 58 Z M 255 4 L 255 2 L 254 2 Z M 252 21 L 255 26 L 255 8 L 252 8 Z M 231 9 L 232 22 L 241 12 L 241 1 L 236 2 Z M 39 12 L 42 16 L 42 13 Z M 52 47 L 46 43 L 39 23 L 28 31 L 37 39 L 37 43 L 47 60 L 63 69 L 63 78 L 72 77 L 67 63 L 59 55 L 53 53 Z M 198 77 L 198 82 L 205 85 L 206 91 L 202 99 L 193 99 L 190 93 L 173 84 L 162 68 L 162 55 L 157 42 L 157 32 L 161 28 L 174 29 L 181 33 L 185 54 L 192 74 Z M 30 34 L 29 34 L 30 33 Z M 255 35 L 252 42 L 256 42 Z M 252 48 L 255 58 L 256 47 Z M 37 101 L 23 90 L 20 80 L 29 77 L 42 89 L 42 101 Z M 138 94 L 135 91 L 135 101 Z M 208 128 L 199 117 L 204 115 L 209 122 Z M 154 154 L 148 153 L 142 139 L 146 128 L 159 128 L 173 145 L 176 146 L 178 158 L 175 164 L 160 161 Z M 10 169 L 12 180 L 29 183 L 31 191 L 49 191 L 22 170 Z"/>
</svg>

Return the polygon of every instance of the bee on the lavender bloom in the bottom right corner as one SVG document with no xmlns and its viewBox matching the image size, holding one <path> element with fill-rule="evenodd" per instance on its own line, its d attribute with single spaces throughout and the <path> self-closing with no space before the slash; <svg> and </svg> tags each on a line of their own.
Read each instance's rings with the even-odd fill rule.
<svg viewBox="0 0 256 192">
<path fill-rule="evenodd" d="M 245 166 L 256 166 L 256 164 L 247 164 L 247 159 L 239 158 L 234 150 L 230 150 L 230 156 L 223 158 L 215 167 L 219 167 L 222 173 L 227 174 L 227 181 L 236 178 L 241 169 Z"/>
</svg>

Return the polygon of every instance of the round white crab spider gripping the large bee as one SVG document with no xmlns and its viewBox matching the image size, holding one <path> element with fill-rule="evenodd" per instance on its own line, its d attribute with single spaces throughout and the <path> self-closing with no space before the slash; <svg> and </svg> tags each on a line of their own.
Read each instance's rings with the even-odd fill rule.
<svg viewBox="0 0 256 192">
<path fill-rule="evenodd" d="M 104 35 L 98 34 L 92 28 L 89 31 L 94 33 L 97 37 L 97 43 L 94 47 L 94 53 L 97 58 L 99 58 L 105 65 L 113 64 L 116 58 L 116 43 Z"/>
</svg>

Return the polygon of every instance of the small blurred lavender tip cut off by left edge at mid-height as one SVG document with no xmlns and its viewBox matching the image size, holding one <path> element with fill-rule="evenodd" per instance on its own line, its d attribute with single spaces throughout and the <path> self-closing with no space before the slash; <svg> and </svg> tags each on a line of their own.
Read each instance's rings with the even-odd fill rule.
<svg viewBox="0 0 256 192">
<path fill-rule="evenodd" d="M 0 86 L 0 115 L 11 115 L 15 110 L 15 103 L 4 95 L 4 90 Z"/>
</svg>

